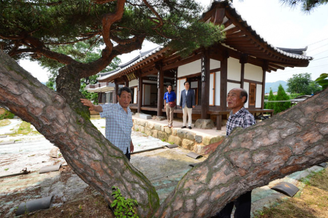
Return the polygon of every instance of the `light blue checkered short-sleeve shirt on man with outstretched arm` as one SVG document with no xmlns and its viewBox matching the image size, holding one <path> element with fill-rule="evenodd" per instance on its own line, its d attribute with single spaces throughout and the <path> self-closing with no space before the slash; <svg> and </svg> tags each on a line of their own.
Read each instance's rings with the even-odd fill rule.
<svg viewBox="0 0 328 218">
<path fill-rule="evenodd" d="M 103 112 L 100 112 L 100 117 L 106 118 L 106 138 L 124 154 L 127 149 L 130 153 L 133 126 L 130 108 L 127 108 L 127 113 L 119 103 L 101 104 L 101 107 L 103 107 Z"/>
</svg>

